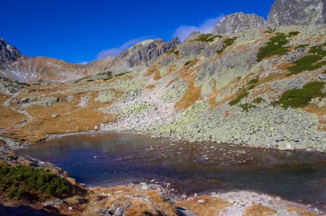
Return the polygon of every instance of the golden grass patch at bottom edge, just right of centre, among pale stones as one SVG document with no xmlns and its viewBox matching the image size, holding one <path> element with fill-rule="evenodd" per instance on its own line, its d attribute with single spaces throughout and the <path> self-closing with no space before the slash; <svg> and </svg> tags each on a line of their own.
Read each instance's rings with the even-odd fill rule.
<svg viewBox="0 0 326 216">
<path fill-rule="evenodd" d="M 199 203 L 198 200 L 204 200 L 204 203 Z M 217 215 L 223 210 L 229 203 L 225 200 L 210 196 L 199 196 L 189 200 L 181 201 L 175 204 L 178 207 L 183 207 L 193 211 L 195 214 L 200 216 L 211 216 Z"/>
</svg>

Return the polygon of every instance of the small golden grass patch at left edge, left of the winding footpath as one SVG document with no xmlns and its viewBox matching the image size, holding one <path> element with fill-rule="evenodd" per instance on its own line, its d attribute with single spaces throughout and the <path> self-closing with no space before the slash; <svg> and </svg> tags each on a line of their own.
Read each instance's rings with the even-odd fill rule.
<svg viewBox="0 0 326 216">
<path fill-rule="evenodd" d="M 22 124 L 23 119 L 25 119 L 25 115 L 0 105 L 0 129 L 13 128 Z"/>
</svg>

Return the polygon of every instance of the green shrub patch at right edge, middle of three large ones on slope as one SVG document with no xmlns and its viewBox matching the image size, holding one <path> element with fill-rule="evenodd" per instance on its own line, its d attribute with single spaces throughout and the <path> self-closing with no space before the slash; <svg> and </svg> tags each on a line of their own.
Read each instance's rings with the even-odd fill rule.
<svg viewBox="0 0 326 216">
<path fill-rule="evenodd" d="M 290 73 L 286 76 L 290 76 L 292 74 L 298 74 L 303 71 L 313 71 L 321 68 L 323 65 L 326 65 L 326 61 L 320 61 L 315 64 L 317 61 L 321 60 L 323 56 L 321 55 L 306 55 L 298 60 L 293 61 L 294 66 L 289 67 Z"/>
</svg>

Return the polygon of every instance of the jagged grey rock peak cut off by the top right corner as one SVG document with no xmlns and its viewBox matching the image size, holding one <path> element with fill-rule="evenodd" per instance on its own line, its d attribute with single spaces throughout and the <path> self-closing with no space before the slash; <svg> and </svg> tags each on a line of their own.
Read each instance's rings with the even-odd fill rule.
<svg viewBox="0 0 326 216">
<path fill-rule="evenodd" d="M 326 1 L 324 0 L 276 0 L 271 6 L 266 24 L 320 25 L 326 23 Z"/>
</svg>

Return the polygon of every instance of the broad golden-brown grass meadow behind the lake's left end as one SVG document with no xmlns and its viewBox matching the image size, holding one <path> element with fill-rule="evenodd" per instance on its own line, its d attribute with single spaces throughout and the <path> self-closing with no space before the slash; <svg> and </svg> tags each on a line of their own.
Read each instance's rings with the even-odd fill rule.
<svg viewBox="0 0 326 216">
<path fill-rule="evenodd" d="M 59 97 L 63 99 L 68 95 L 55 94 L 54 92 L 57 90 L 64 90 L 69 87 L 69 85 L 46 86 L 46 88 L 44 86 L 41 86 L 41 88 L 37 88 L 37 86 L 29 87 L 33 87 L 33 90 L 35 90 L 35 92 L 33 91 L 29 96 L 47 94 L 47 97 Z M 19 98 L 25 97 L 24 94 L 25 93 L 22 92 Z M 98 92 L 92 92 L 90 94 L 86 107 L 75 107 L 79 103 L 80 97 L 84 97 L 86 92 L 69 95 L 75 97 L 73 102 L 61 100 L 51 107 L 31 107 L 24 109 L 33 117 L 32 121 L 28 122 L 24 128 L 10 129 L 3 131 L 1 134 L 21 142 L 26 141 L 34 143 L 43 140 L 47 134 L 89 131 L 93 130 L 100 122 L 105 123 L 115 120 L 116 115 L 108 115 L 98 110 L 98 108 L 110 105 L 109 102 L 95 102 L 95 98 L 98 97 Z M 120 98 L 122 92 L 117 91 L 117 95 L 118 98 Z M 18 106 L 15 107 L 19 108 Z M 14 122 L 15 124 L 15 122 L 21 121 L 22 118 L 17 118 L 17 116 L 21 116 L 19 113 L 19 115 L 17 115 L 14 111 L 10 111 L 9 108 L 6 109 L 8 109 L 8 112 L 6 112 L 8 116 L 4 113 L 0 114 L 0 119 L 4 122 L 4 124 L 1 124 L 1 127 L 8 127 L 9 124 L 7 122 Z M 52 114 L 59 114 L 59 116 L 52 117 Z"/>
</svg>

